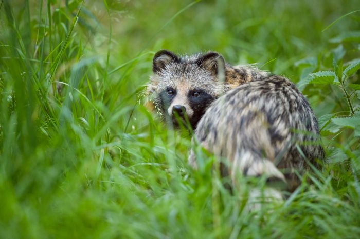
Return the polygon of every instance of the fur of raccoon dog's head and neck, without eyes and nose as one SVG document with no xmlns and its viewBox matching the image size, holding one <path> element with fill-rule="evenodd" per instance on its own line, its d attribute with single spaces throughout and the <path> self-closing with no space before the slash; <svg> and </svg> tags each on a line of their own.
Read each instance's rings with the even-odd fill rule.
<svg viewBox="0 0 360 239">
<path fill-rule="evenodd" d="M 182 105 L 194 129 L 207 107 L 220 95 L 269 75 L 252 67 L 232 67 L 216 52 L 177 56 L 161 50 L 153 59 L 153 75 L 147 85 L 150 102 L 147 106 L 154 108 L 161 118 L 177 125 L 172 108 Z M 169 96 L 167 90 L 173 90 L 175 94 Z M 191 97 L 193 92 L 200 92 L 200 97 Z"/>
</svg>

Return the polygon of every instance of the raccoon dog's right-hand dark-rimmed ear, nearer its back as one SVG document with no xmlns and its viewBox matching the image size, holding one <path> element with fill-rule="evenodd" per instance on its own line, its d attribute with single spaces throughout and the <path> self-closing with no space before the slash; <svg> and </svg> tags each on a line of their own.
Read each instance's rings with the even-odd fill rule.
<svg viewBox="0 0 360 239">
<path fill-rule="evenodd" d="M 204 67 L 208 71 L 211 71 L 215 75 L 217 75 L 219 73 L 220 68 L 222 68 L 222 70 L 225 71 L 225 60 L 217 52 L 210 51 L 210 52 L 200 56 L 196 60 L 196 64 L 201 67 Z"/>
</svg>

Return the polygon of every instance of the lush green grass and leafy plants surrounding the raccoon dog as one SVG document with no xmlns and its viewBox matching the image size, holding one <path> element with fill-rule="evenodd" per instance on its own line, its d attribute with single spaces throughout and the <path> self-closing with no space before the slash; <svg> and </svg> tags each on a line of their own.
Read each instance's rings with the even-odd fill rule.
<svg viewBox="0 0 360 239">
<path fill-rule="evenodd" d="M 0 1 L 0 238 L 360 236 L 359 7 Z M 244 210 L 262 182 L 230 194 L 211 157 L 192 170 L 190 138 L 143 106 L 159 49 L 291 78 L 319 118 L 321 169 L 283 204 Z"/>
</svg>

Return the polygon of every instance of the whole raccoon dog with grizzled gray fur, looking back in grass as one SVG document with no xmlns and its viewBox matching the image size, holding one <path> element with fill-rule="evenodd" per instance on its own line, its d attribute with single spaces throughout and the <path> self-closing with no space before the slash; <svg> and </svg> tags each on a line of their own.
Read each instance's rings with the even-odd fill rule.
<svg viewBox="0 0 360 239">
<path fill-rule="evenodd" d="M 174 125 L 179 116 L 195 140 L 226 158 L 223 175 L 266 175 L 298 184 L 294 170 L 323 157 L 314 113 L 287 78 L 247 66 L 230 66 L 215 52 L 177 56 L 159 51 L 147 93 Z M 196 168 L 192 150 L 189 163 Z"/>
</svg>

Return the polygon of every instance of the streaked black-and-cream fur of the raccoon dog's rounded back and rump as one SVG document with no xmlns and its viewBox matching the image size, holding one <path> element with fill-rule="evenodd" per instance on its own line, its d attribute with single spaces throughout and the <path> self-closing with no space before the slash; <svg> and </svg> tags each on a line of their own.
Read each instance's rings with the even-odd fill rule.
<svg viewBox="0 0 360 239">
<path fill-rule="evenodd" d="M 248 82 L 213 102 L 197 124 L 195 137 L 228 160 L 225 174 L 267 175 L 298 184 L 294 170 L 323 157 L 314 113 L 293 83 L 281 76 Z M 189 162 L 196 167 L 192 151 Z M 279 170 L 280 169 L 280 170 Z"/>
</svg>

